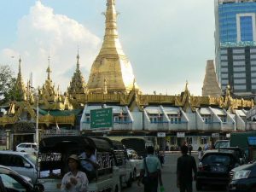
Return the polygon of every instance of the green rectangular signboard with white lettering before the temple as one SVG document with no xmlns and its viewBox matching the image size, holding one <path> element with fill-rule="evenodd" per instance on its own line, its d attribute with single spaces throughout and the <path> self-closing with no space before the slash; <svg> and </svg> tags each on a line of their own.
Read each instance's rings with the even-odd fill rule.
<svg viewBox="0 0 256 192">
<path fill-rule="evenodd" d="M 113 126 L 112 108 L 90 110 L 90 129 L 110 128 Z"/>
</svg>

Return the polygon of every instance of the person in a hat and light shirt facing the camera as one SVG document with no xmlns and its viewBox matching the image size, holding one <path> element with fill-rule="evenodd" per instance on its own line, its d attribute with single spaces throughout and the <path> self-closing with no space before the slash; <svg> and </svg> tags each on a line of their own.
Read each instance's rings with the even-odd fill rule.
<svg viewBox="0 0 256 192">
<path fill-rule="evenodd" d="M 67 164 L 70 172 L 67 172 L 62 178 L 61 192 L 86 192 L 88 179 L 84 172 L 79 171 L 80 160 L 78 155 L 70 155 Z"/>
</svg>

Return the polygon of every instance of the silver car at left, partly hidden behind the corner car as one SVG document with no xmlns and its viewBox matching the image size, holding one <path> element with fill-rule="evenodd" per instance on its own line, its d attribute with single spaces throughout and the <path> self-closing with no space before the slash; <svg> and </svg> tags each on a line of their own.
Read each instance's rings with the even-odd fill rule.
<svg viewBox="0 0 256 192">
<path fill-rule="evenodd" d="M 34 154 L 27 154 L 16 151 L 0 151 L 0 164 L 8 166 L 20 175 L 30 177 L 32 183 L 38 178 L 37 157 Z"/>
</svg>

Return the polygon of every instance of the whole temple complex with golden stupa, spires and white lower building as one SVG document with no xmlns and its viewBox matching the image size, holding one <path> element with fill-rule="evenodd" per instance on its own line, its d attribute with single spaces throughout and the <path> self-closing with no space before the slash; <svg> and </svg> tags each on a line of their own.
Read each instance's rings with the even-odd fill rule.
<svg viewBox="0 0 256 192">
<path fill-rule="evenodd" d="M 203 96 L 192 96 L 188 82 L 184 84 L 184 90 L 175 96 L 143 94 L 131 62 L 119 42 L 115 1 L 107 1 L 105 36 L 87 84 L 79 69 L 79 53 L 76 70 L 64 94 L 52 82 L 49 65 L 47 79 L 36 91 L 32 91 L 29 83 L 27 86 L 22 83 L 19 67 L 16 89 L 20 92 L 17 91 L 14 101 L 3 107 L 7 113 L 0 117 L 7 148 L 21 139 L 21 142 L 28 140 L 17 137 L 15 127 L 20 122 L 32 126 L 26 132 L 30 132 L 35 140 L 37 119 L 39 138 L 47 137 L 48 133 L 67 134 L 65 131 L 87 136 L 107 135 L 116 139 L 120 136 L 150 137 L 158 141 L 160 148 L 165 148 L 166 144 L 176 148 L 184 141 L 198 148 L 204 143 L 227 137 L 231 131 L 247 131 L 246 115 L 254 102 L 233 98 L 230 86 L 221 96 L 212 61 L 207 61 Z M 91 127 L 90 112 L 99 108 L 112 108 L 112 127 Z M 10 143 L 14 137 L 17 139 Z"/>
</svg>

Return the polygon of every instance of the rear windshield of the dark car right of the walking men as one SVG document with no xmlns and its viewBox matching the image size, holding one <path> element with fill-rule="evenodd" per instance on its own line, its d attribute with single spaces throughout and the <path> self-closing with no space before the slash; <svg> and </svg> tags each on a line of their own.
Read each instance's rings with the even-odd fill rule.
<svg viewBox="0 0 256 192">
<path fill-rule="evenodd" d="M 201 160 L 203 165 L 229 165 L 230 164 L 230 155 L 227 154 L 206 154 Z"/>
</svg>

